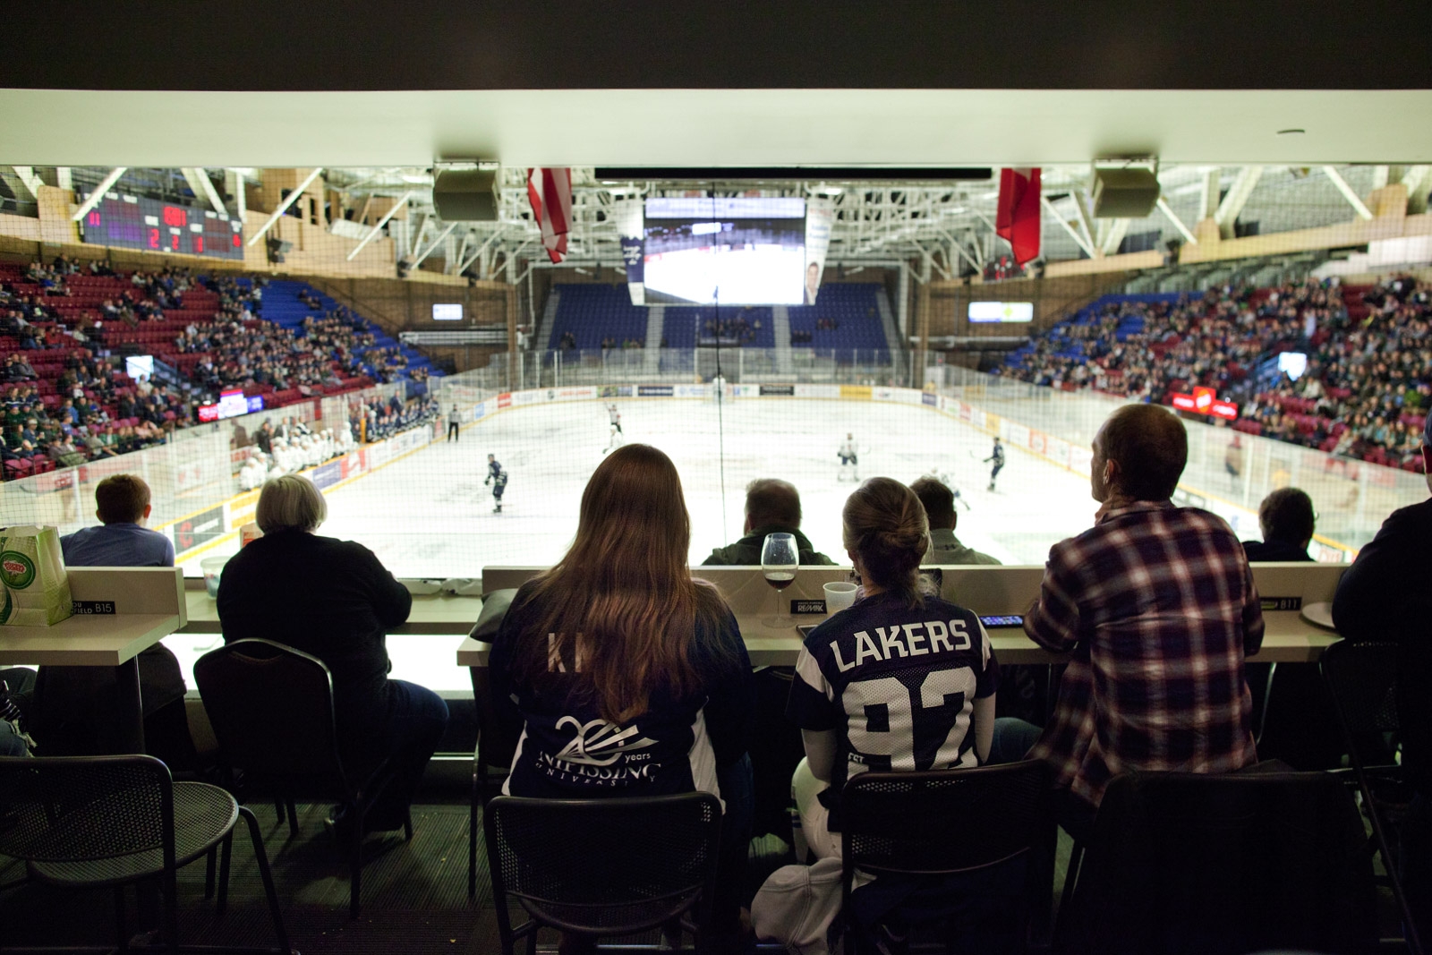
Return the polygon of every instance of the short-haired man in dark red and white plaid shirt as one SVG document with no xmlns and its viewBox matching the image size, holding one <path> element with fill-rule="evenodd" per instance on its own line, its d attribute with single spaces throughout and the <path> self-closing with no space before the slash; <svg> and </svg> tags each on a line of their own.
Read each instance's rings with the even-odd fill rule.
<svg viewBox="0 0 1432 955">
<path fill-rule="evenodd" d="M 1160 405 L 1126 405 L 1094 435 L 1094 527 L 1050 548 L 1024 630 L 1071 651 L 1031 759 L 1047 760 L 1061 822 L 1087 835 L 1124 772 L 1221 773 L 1257 762 L 1243 659 L 1263 614 L 1223 518 L 1169 500 L 1189 440 Z"/>
</svg>

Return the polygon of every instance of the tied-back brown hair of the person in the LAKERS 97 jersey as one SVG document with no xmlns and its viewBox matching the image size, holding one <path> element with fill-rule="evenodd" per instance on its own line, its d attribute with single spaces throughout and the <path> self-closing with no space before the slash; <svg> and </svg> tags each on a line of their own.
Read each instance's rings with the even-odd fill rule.
<svg viewBox="0 0 1432 955">
<path fill-rule="evenodd" d="M 892 478 L 871 478 L 845 500 L 841 521 L 845 548 L 861 556 L 869 581 L 922 606 L 919 561 L 929 550 L 929 521 L 915 493 Z"/>
</svg>

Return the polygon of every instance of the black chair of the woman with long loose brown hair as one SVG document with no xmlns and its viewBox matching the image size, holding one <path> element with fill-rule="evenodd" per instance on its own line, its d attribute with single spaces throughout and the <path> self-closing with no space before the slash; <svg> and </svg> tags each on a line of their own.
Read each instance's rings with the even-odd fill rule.
<svg viewBox="0 0 1432 955">
<path fill-rule="evenodd" d="M 498 796 L 487 803 L 483 825 L 505 955 L 520 938 L 536 952 L 544 925 L 610 938 L 677 919 L 697 952 L 712 951 L 720 802 L 710 793 Z M 530 916 L 516 929 L 508 896 Z"/>
</svg>

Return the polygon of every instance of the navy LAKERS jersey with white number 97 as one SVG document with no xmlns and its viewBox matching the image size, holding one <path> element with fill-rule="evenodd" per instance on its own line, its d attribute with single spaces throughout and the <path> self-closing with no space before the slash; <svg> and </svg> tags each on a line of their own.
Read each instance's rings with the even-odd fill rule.
<svg viewBox="0 0 1432 955">
<path fill-rule="evenodd" d="M 974 700 L 991 696 L 998 682 L 990 636 L 974 611 L 938 598 L 912 610 L 886 591 L 811 631 L 786 716 L 800 729 L 835 732 L 833 800 L 849 776 L 866 769 L 978 765 Z"/>
</svg>

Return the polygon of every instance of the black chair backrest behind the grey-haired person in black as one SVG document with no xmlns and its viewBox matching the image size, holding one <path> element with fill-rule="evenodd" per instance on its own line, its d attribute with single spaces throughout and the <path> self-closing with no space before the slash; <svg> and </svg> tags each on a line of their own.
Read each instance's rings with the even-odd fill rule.
<svg viewBox="0 0 1432 955">
<path fill-rule="evenodd" d="M 318 657 L 274 640 L 236 640 L 199 657 L 193 679 L 229 766 L 342 777 L 334 680 Z"/>
</svg>

